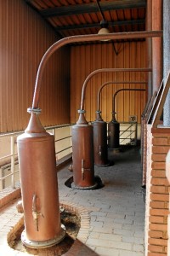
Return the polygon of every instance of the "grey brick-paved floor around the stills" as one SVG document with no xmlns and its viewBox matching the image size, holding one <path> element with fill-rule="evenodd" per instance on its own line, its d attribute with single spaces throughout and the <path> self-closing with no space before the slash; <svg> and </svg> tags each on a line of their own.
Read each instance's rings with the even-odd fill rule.
<svg viewBox="0 0 170 256">
<path fill-rule="evenodd" d="M 112 157 L 112 156 L 111 156 Z M 82 217 L 81 230 L 66 256 L 144 256 L 144 201 L 139 150 L 116 153 L 114 166 L 96 167 L 105 186 L 77 190 L 65 186 L 68 166 L 58 172 L 59 201 Z M 7 233 L 21 218 L 16 201 L 0 209 L 0 255 L 26 255 L 8 247 Z M 7 221 L 8 220 L 8 221 Z M 4 253 L 3 253 L 4 252 Z M 3 254 L 2 254 L 3 253 Z"/>
</svg>

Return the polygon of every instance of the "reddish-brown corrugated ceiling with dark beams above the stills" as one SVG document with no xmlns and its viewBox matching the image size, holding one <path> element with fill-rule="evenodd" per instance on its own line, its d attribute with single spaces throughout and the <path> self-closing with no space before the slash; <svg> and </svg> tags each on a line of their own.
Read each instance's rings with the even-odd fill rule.
<svg viewBox="0 0 170 256">
<path fill-rule="evenodd" d="M 146 0 L 25 0 L 59 38 L 94 34 L 106 20 L 110 32 L 145 30 Z"/>
</svg>

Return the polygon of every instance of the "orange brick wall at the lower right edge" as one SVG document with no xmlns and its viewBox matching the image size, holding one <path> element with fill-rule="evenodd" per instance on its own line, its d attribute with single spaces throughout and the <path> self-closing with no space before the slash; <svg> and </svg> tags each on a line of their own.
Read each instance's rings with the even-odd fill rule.
<svg viewBox="0 0 170 256">
<path fill-rule="evenodd" d="M 167 255 L 167 217 L 169 183 L 166 177 L 166 156 L 170 148 L 170 129 L 150 130 L 150 185 L 148 186 L 148 244 L 146 255 Z M 148 181 L 147 181 L 148 182 Z"/>
</svg>

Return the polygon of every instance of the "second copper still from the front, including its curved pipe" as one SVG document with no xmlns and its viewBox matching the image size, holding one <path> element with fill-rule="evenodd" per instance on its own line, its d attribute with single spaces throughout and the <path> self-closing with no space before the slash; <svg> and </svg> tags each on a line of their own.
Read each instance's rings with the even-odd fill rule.
<svg viewBox="0 0 170 256">
<path fill-rule="evenodd" d="M 102 68 L 94 70 L 85 79 L 82 85 L 81 108 L 78 110 L 79 119 L 76 125 L 72 126 L 72 169 L 73 183 L 72 188 L 76 189 L 95 189 L 97 184 L 94 178 L 94 148 L 97 138 L 94 139 L 93 126 L 89 125 L 85 119 L 84 98 L 85 90 L 89 79 L 97 73 L 111 72 L 150 72 L 148 68 Z M 96 126 L 97 127 L 97 126 Z M 96 130 L 96 127 L 94 128 Z M 98 128 L 98 127 L 97 127 Z M 99 131 L 101 132 L 101 130 Z M 100 134 L 97 134 L 99 137 Z M 98 154 L 98 152 L 97 152 Z"/>
</svg>

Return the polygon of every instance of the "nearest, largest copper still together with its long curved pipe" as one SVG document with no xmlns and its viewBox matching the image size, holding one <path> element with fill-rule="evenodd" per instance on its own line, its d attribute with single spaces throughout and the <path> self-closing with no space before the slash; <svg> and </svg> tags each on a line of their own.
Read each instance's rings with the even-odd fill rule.
<svg viewBox="0 0 170 256">
<path fill-rule="evenodd" d="M 26 247 L 50 247 L 65 236 L 65 229 L 61 227 L 59 218 L 54 137 L 43 129 L 38 118 L 42 73 L 49 57 L 61 46 L 70 43 L 153 37 L 162 37 L 162 32 L 121 32 L 73 36 L 57 41 L 42 56 L 37 70 L 32 108 L 28 109 L 31 119 L 25 133 L 17 139 L 25 218 L 22 241 Z"/>
</svg>

